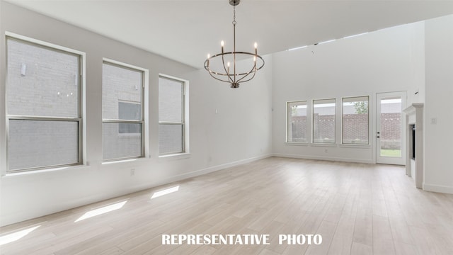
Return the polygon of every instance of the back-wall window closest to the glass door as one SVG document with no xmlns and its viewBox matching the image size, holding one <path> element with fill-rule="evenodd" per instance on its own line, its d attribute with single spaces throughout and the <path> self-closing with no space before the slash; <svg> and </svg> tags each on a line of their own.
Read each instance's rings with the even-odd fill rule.
<svg viewBox="0 0 453 255">
<path fill-rule="evenodd" d="M 343 144 L 368 145 L 368 96 L 343 98 Z"/>
</svg>

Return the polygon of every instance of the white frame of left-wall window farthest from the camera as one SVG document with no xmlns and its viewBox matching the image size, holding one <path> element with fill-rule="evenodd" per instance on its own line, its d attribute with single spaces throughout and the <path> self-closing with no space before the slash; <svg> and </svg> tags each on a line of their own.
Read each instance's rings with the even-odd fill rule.
<svg viewBox="0 0 453 255">
<path fill-rule="evenodd" d="M 181 109 L 181 122 L 165 122 L 165 121 L 160 121 L 159 118 L 159 126 L 160 125 L 183 125 L 183 145 L 182 145 L 182 152 L 169 152 L 169 153 L 161 153 L 159 149 L 159 157 L 172 157 L 172 156 L 177 156 L 177 155 L 183 155 L 183 154 L 189 154 L 189 81 L 185 79 L 180 79 L 178 77 L 173 77 L 170 75 L 166 74 L 159 74 L 159 79 L 171 79 L 174 81 L 181 82 L 183 84 L 183 94 L 181 95 L 181 98 L 183 100 L 182 106 L 183 108 Z M 158 86 L 159 87 L 159 86 Z M 158 97 L 159 98 L 159 97 Z M 160 99 L 160 98 L 159 98 Z M 159 112 L 159 111 L 158 111 Z M 160 137 L 159 137 L 159 142 L 160 142 Z M 158 143 L 159 143 L 158 142 Z"/>
</svg>

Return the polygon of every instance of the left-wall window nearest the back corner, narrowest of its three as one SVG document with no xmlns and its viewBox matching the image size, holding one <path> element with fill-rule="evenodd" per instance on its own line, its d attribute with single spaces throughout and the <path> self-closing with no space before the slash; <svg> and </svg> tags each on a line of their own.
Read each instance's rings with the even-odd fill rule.
<svg viewBox="0 0 453 255">
<path fill-rule="evenodd" d="M 159 77 L 159 154 L 187 152 L 185 90 L 188 81 Z"/>
</svg>

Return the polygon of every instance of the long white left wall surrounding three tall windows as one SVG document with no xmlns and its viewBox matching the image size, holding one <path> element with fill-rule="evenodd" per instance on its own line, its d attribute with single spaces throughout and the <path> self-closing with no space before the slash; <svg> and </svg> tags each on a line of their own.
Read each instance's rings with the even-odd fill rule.
<svg viewBox="0 0 453 255">
<path fill-rule="evenodd" d="M 5 52 L 5 31 L 86 52 L 86 164 L 59 171 L 1 176 L 0 225 L 268 157 L 271 153 L 271 57 L 265 57 L 266 67 L 253 81 L 240 89 L 230 89 L 228 84 L 210 78 L 204 69 L 193 69 L 4 1 L 0 1 L 0 10 L 0 52 Z M 0 56 L 0 76 L 5 77 L 5 55 Z M 103 57 L 149 69 L 146 141 L 149 153 L 144 159 L 102 162 Z M 190 81 L 190 155 L 158 157 L 159 73 Z M 5 79 L 0 82 L 0 134 L 6 134 Z M 0 171 L 4 175 L 5 135 L 0 135 L 0 145 Z M 134 176 L 130 176 L 130 169 L 135 169 Z"/>
</svg>

